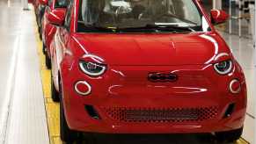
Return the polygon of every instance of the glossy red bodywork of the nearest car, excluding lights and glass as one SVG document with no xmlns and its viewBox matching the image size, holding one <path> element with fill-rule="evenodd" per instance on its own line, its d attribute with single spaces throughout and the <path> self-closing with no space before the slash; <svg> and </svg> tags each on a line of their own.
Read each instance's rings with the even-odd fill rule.
<svg viewBox="0 0 256 144">
<path fill-rule="evenodd" d="M 70 27 L 58 27 L 51 44 L 52 74 L 56 90 L 62 86 L 62 101 L 69 128 L 96 133 L 212 133 L 243 126 L 246 112 L 246 84 L 242 68 L 222 37 L 211 25 L 201 4 L 195 0 L 206 18 L 211 32 L 190 33 L 77 33 L 79 1 L 71 8 Z M 216 22 L 225 19 L 213 13 Z M 84 55 L 106 64 L 102 76 L 87 76 L 78 66 Z M 232 71 L 226 76 L 216 73 L 213 64 L 231 60 Z M 153 83 L 150 72 L 178 76 L 172 83 Z M 241 91 L 230 92 L 230 82 L 238 79 Z M 91 86 L 87 96 L 74 89 L 78 81 Z M 230 104 L 235 110 L 224 114 Z M 92 105 L 100 119 L 91 118 L 85 105 Z M 214 108 L 214 118 L 174 122 L 123 121 L 114 111 L 140 111 Z"/>
</svg>

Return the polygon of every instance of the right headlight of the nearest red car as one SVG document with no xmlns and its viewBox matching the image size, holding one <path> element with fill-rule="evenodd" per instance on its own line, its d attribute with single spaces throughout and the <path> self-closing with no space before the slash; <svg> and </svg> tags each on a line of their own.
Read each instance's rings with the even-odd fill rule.
<svg viewBox="0 0 256 144">
<path fill-rule="evenodd" d="M 216 72 L 220 75 L 227 75 L 232 70 L 233 63 L 231 60 L 228 61 L 220 61 L 216 64 L 214 64 L 214 68 Z"/>
</svg>

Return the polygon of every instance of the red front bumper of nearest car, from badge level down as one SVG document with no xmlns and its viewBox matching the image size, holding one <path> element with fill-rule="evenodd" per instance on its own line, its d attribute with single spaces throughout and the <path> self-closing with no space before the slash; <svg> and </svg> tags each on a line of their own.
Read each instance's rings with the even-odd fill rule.
<svg viewBox="0 0 256 144">
<path fill-rule="evenodd" d="M 84 74 L 68 77 L 62 78 L 62 96 L 65 116 L 73 130 L 88 133 L 213 133 L 244 125 L 246 85 L 244 77 L 238 74 L 223 78 L 217 88 L 215 83 L 220 79 L 211 78 L 213 81 L 208 83 L 205 78 L 196 76 L 196 87 L 201 89 L 191 89 L 192 86 L 178 89 L 172 85 L 158 87 L 150 83 L 143 88 L 134 80 L 114 84 L 104 77 L 91 78 L 87 82 L 91 84 L 92 92 L 85 97 L 73 89 L 77 80 L 84 80 Z M 179 82 L 188 85 L 191 83 L 187 79 L 192 78 L 180 77 Z M 226 84 L 233 78 L 241 80 L 242 90 L 236 95 L 230 93 Z M 92 114 L 86 106 L 92 107 Z"/>
</svg>

